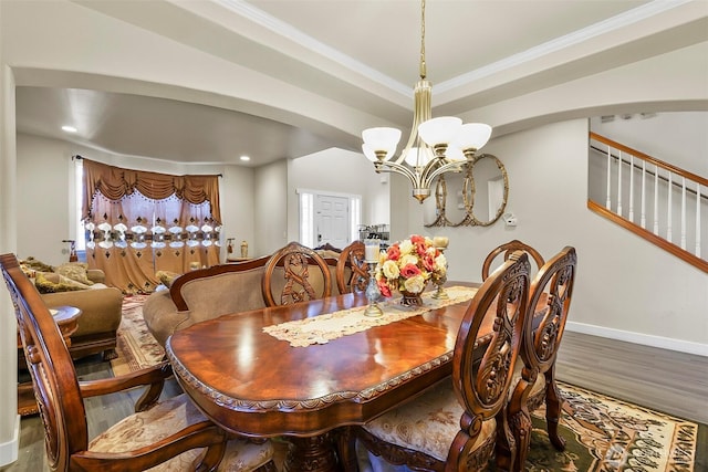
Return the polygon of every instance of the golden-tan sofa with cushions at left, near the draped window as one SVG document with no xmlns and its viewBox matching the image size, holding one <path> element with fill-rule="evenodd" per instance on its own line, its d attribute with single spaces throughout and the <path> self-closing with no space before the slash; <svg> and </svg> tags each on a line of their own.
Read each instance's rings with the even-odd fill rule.
<svg viewBox="0 0 708 472">
<path fill-rule="evenodd" d="M 43 264 L 32 258 L 21 261 L 33 279 L 49 308 L 75 306 L 82 311 L 79 327 L 71 335 L 72 358 L 101 354 L 104 360 L 116 357 L 116 332 L 121 325 L 123 293 L 104 284 L 103 271 L 90 270 L 82 263 L 59 266 Z M 20 360 L 22 367 L 23 358 Z"/>
</svg>

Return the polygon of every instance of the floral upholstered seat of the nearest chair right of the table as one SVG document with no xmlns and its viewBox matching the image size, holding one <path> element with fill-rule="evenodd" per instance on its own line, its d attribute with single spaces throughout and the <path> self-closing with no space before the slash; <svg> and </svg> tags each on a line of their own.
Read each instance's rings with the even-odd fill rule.
<svg viewBox="0 0 708 472">
<path fill-rule="evenodd" d="M 379 440 L 445 462 L 452 440 L 460 431 L 464 412 L 448 378 L 415 401 L 367 422 L 363 429 Z M 493 447 L 496 429 L 497 420 L 493 417 L 483 421 L 471 451 Z"/>
</svg>

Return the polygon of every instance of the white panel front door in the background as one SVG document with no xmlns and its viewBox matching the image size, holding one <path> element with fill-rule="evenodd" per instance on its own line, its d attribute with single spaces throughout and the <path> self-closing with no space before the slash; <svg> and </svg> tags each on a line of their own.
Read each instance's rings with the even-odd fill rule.
<svg viewBox="0 0 708 472">
<path fill-rule="evenodd" d="M 350 199 L 316 195 L 314 201 L 315 247 L 326 243 L 343 249 L 350 243 Z"/>
</svg>

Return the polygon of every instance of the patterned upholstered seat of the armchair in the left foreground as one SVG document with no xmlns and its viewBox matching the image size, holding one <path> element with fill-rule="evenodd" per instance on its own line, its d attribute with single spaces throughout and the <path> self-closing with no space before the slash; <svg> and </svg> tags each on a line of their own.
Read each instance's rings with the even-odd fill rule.
<svg viewBox="0 0 708 472">
<path fill-rule="evenodd" d="M 147 411 L 124 418 L 88 443 L 90 452 L 122 453 L 149 447 L 175 431 L 207 421 L 186 394 L 160 401 Z M 150 472 L 190 470 L 202 449 L 191 449 L 167 462 L 154 466 Z M 251 442 L 232 439 L 227 443 L 226 453 L 217 471 L 250 472 L 269 463 L 273 458 L 270 441 Z"/>
</svg>

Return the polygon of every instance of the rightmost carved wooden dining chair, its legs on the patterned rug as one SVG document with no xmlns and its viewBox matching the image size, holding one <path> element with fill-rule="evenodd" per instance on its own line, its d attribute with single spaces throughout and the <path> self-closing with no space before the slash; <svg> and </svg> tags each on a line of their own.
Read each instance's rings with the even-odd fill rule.
<svg viewBox="0 0 708 472">
<path fill-rule="evenodd" d="M 561 346 L 571 306 L 577 269 L 575 249 L 565 247 L 549 260 L 531 283 L 530 323 L 527 323 L 520 356 L 523 363 L 508 406 L 517 444 L 512 470 L 523 471 L 531 441 L 530 412 L 545 402 L 545 421 L 553 447 L 563 451 L 559 434 L 563 397 L 555 384 L 555 358 Z M 510 460 L 507 454 L 506 459 Z"/>
</svg>

